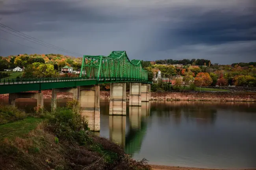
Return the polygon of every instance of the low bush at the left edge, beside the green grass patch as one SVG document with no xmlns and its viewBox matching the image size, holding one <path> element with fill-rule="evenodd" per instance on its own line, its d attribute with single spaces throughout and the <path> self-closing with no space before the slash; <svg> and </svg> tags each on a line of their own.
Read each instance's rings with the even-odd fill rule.
<svg viewBox="0 0 256 170">
<path fill-rule="evenodd" d="M 25 112 L 22 112 L 16 107 L 0 105 L 0 124 L 17 121 L 25 117 Z"/>
</svg>

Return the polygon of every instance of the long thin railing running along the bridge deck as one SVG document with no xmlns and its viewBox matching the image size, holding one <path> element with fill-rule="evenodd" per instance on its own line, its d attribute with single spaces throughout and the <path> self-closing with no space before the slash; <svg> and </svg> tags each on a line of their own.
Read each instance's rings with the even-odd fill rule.
<svg viewBox="0 0 256 170">
<path fill-rule="evenodd" d="M 96 77 L 50 77 L 50 78 L 19 78 L 19 79 L 1 79 L 0 85 L 3 84 L 30 84 L 30 83 L 44 83 L 44 82 L 68 82 L 68 81 L 86 81 L 97 80 L 97 82 L 118 82 L 118 81 L 139 81 L 148 82 L 148 80 L 122 77 L 104 77 L 97 79 Z"/>
</svg>

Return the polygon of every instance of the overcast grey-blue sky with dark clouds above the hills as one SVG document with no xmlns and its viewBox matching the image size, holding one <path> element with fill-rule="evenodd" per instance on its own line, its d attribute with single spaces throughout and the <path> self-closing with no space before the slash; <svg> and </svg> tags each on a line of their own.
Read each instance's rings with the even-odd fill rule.
<svg viewBox="0 0 256 170">
<path fill-rule="evenodd" d="M 0 0 L 0 23 L 83 55 L 256 61 L 256 0 Z M 11 32 L 0 27 L 0 29 Z M 0 31 L 0 55 L 61 53 Z"/>
</svg>

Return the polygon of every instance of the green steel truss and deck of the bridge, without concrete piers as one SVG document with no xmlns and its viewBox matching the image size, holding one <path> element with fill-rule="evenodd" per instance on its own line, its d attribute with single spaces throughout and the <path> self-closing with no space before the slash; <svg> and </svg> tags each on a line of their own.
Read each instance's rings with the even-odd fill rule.
<svg viewBox="0 0 256 170">
<path fill-rule="evenodd" d="M 80 77 L 1 79 L 0 94 L 113 82 L 151 83 L 141 60 L 129 60 L 126 51 L 112 51 L 109 56 L 84 55 Z"/>
</svg>

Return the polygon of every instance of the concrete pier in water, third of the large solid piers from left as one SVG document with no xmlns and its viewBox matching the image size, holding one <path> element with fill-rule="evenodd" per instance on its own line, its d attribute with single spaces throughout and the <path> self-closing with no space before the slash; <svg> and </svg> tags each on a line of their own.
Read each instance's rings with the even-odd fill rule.
<svg viewBox="0 0 256 170">
<path fill-rule="evenodd" d="M 130 82 L 129 106 L 141 106 L 141 83 Z"/>
</svg>

